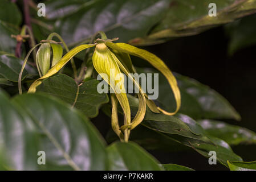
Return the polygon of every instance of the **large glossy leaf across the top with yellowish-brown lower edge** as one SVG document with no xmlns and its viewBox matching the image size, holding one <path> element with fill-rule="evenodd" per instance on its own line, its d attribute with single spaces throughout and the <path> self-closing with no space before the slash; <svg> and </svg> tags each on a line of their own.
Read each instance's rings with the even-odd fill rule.
<svg viewBox="0 0 256 182">
<path fill-rule="evenodd" d="M 56 1 L 46 3 L 47 20 L 74 46 L 97 31 L 120 42 L 149 45 L 170 38 L 199 34 L 255 12 L 255 0 L 222 0 L 217 17 L 210 17 L 210 0 Z M 76 35 L 76 36 L 74 36 Z"/>
</svg>

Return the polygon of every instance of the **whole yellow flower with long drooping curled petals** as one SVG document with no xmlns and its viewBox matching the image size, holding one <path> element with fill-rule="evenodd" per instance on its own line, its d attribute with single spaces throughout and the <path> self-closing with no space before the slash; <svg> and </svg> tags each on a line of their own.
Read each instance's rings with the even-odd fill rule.
<svg viewBox="0 0 256 182">
<path fill-rule="evenodd" d="M 129 139 L 130 130 L 134 129 L 143 121 L 146 113 L 146 105 L 155 113 L 159 113 L 161 111 L 166 115 L 174 115 L 177 113 L 178 109 L 180 109 L 181 97 L 180 90 L 177 86 L 176 78 L 173 76 L 172 72 L 159 57 L 153 55 L 153 53 L 145 51 L 144 49 L 140 49 L 129 44 L 112 43 L 113 40 L 116 39 L 107 39 L 107 37 L 101 32 L 101 39 L 97 39 L 95 44 L 84 44 L 73 48 L 71 51 L 67 52 L 66 55 L 64 55 L 62 59 L 60 59 L 59 62 L 56 63 L 45 75 L 38 78 L 38 80 L 32 83 L 29 88 L 29 93 L 36 92 L 36 86 L 40 85 L 44 78 L 50 77 L 57 73 L 66 63 L 68 63 L 68 61 L 72 57 L 76 55 L 76 53 L 86 48 L 95 46 L 94 55 L 92 56 L 92 63 L 94 65 L 94 68 L 115 92 L 115 94 L 111 94 L 112 128 L 119 136 L 120 140 L 127 142 Z M 173 90 L 176 100 L 176 110 L 173 111 L 173 113 L 162 110 L 160 107 L 157 107 L 152 100 L 148 100 L 147 94 L 143 93 L 139 83 L 129 75 L 129 73 L 135 72 L 129 55 L 137 56 L 141 59 L 148 61 L 153 65 L 153 67 L 158 69 L 166 77 L 170 87 Z M 119 80 L 116 80 L 116 76 L 121 72 L 127 75 L 129 79 L 132 79 L 136 88 L 139 89 L 139 109 L 132 121 L 131 109 L 129 107 L 127 94 L 123 90 L 124 78 L 120 77 Z M 109 81 L 111 79 L 114 81 Z M 121 105 L 124 113 L 124 125 L 121 127 L 119 126 L 117 117 L 118 102 Z"/>
</svg>

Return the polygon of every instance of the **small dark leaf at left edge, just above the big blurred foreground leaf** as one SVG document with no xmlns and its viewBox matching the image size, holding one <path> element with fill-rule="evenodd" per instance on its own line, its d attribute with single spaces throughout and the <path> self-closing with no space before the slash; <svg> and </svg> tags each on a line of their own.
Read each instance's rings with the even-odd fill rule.
<svg viewBox="0 0 256 182">
<path fill-rule="evenodd" d="M 0 76 L 2 80 L 1 82 L 18 82 L 19 72 L 21 71 L 22 64 L 23 60 L 17 57 L 8 54 L 0 54 Z M 27 64 L 24 72 L 22 73 L 22 79 L 30 75 L 36 75 L 36 72 L 34 68 L 31 68 Z"/>
</svg>

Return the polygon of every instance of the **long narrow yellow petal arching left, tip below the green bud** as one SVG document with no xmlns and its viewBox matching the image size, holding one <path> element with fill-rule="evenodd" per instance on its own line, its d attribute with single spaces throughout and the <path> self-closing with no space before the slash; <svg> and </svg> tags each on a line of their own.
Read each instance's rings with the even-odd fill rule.
<svg viewBox="0 0 256 182">
<path fill-rule="evenodd" d="M 54 75 L 55 73 L 57 73 L 60 69 L 62 69 L 64 67 L 65 64 L 68 63 L 68 61 L 74 57 L 78 52 L 83 51 L 86 48 L 90 48 L 90 47 L 94 47 L 95 44 L 84 44 L 78 47 L 73 48 L 70 52 L 66 53 L 66 55 L 64 55 L 62 57 L 62 59 L 59 60 L 59 62 L 57 64 L 54 65 L 54 67 L 52 67 L 47 73 L 46 75 L 38 78 L 37 80 L 35 80 L 29 88 L 28 93 L 34 93 L 36 92 L 36 87 L 40 84 L 42 84 L 42 80 L 44 78 L 48 78 L 52 75 Z"/>
</svg>

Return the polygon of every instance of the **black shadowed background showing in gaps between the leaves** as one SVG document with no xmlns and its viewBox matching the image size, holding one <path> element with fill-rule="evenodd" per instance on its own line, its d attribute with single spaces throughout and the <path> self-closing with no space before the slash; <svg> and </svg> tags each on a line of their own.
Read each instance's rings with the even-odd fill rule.
<svg viewBox="0 0 256 182">
<path fill-rule="evenodd" d="M 256 132 L 256 46 L 227 54 L 229 39 L 224 27 L 213 28 L 200 35 L 170 40 L 156 46 L 143 47 L 159 56 L 173 72 L 192 77 L 222 94 L 241 114 L 242 121 L 226 121 Z M 141 66 L 141 63 L 134 63 Z M 103 136 L 110 127 L 104 114 L 93 119 Z M 244 161 L 256 160 L 256 146 L 232 146 Z M 149 151 L 161 163 L 175 163 L 196 170 L 228 170 L 221 164 L 210 166 L 197 152 Z"/>
</svg>

